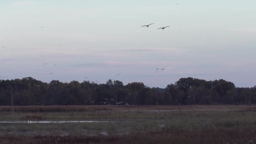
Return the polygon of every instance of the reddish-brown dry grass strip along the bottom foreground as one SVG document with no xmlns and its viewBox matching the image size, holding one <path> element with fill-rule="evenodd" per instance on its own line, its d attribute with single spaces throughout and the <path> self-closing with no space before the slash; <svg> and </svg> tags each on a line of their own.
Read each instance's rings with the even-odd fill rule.
<svg viewBox="0 0 256 144">
<path fill-rule="evenodd" d="M 244 144 L 256 141 L 256 128 L 133 132 L 123 135 L 0 136 L 1 144 Z"/>
</svg>

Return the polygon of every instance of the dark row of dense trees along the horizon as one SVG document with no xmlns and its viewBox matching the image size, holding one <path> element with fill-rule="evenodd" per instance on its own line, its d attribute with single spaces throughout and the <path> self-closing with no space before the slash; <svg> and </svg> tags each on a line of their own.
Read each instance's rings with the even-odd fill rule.
<svg viewBox="0 0 256 144">
<path fill-rule="evenodd" d="M 187 77 L 166 88 L 149 88 L 141 82 L 128 83 L 109 79 L 44 83 L 32 77 L 0 80 L 0 105 L 175 105 L 175 104 L 252 104 L 256 86 L 237 88 L 234 83 Z"/>
</svg>

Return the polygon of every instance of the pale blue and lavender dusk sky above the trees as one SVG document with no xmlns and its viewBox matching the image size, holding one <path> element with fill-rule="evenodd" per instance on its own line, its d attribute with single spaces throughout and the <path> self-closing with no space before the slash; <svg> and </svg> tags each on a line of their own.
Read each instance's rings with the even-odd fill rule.
<svg viewBox="0 0 256 144">
<path fill-rule="evenodd" d="M 0 79 L 165 88 L 193 77 L 253 87 L 255 7 L 255 0 L 0 0 Z"/>
</svg>

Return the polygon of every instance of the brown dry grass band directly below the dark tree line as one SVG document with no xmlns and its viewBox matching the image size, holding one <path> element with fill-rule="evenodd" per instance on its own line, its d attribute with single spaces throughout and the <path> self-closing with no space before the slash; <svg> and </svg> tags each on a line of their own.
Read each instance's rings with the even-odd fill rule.
<svg viewBox="0 0 256 144">
<path fill-rule="evenodd" d="M 88 111 L 100 111 L 115 109 L 115 105 L 99 105 L 99 106 L 14 106 L 15 112 L 88 112 Z M 165 111 L 177 111 L 179 106 L 118 106 L 118 110 L 126 109 L 140 109 L 141 111 L 149 110 L 165 110 Z M 240 109 L 256 109 L 256 105 L 183 105 L 181 110 L 184 111 L 228 111 L 228 110 L 240 110 Z M 0 112 L 11 112 L 10 106 L 0 106 Z"/>
</svg>

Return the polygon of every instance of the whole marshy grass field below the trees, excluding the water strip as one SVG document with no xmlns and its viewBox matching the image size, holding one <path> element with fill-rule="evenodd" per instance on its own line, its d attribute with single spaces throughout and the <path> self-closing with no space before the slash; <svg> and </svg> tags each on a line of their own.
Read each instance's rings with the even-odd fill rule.
<svg viewBox="0 0 256 144">
<path fill-rule="evenodd" d="M 1 143 L 256 142 L 256 106 L 0 107 L 0 121 L 104 120 L 108 123 L 0 123 Z"/>
</svg>

